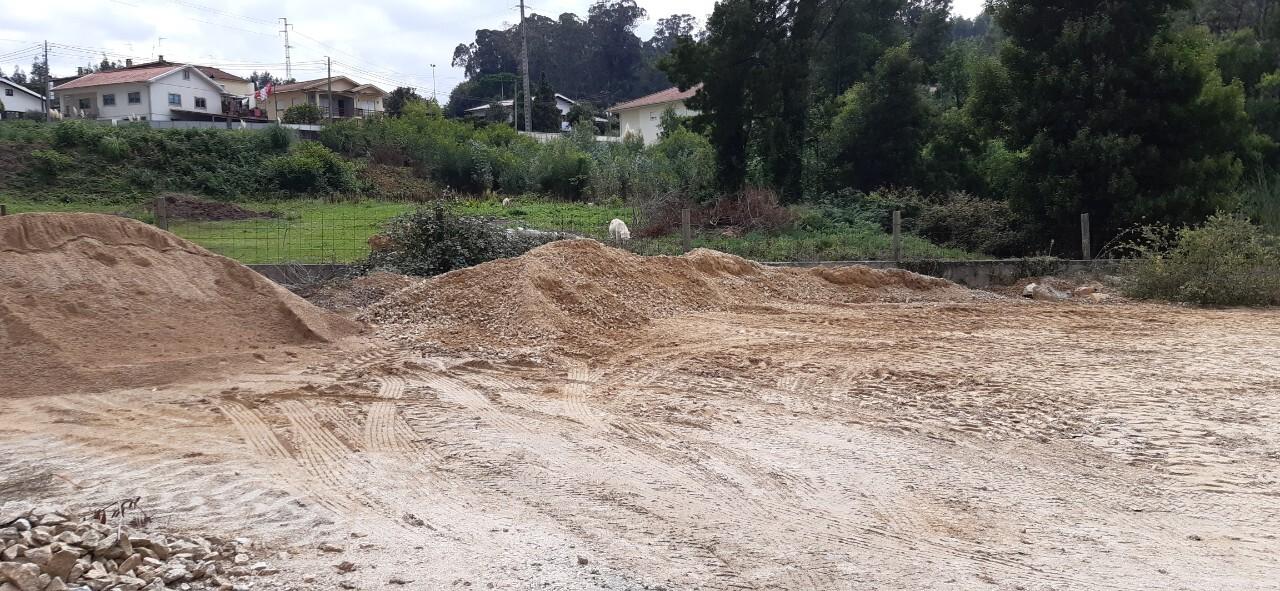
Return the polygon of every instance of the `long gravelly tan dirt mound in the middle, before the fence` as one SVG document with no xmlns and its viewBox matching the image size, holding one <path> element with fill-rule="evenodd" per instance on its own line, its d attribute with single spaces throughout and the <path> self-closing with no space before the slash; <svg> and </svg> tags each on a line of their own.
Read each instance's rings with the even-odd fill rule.
<svg viewBox="0 0 1280 591">
<path fill-rule="evenodd" d="M 641 257 L 562 240 L 399 290 L 366 317 L 392 338 L 444 349 L 589 354 L 687 313 L 983 298 L 997 297 L 899 270 L 765 267 L 707 249 Z"/>
</svg>

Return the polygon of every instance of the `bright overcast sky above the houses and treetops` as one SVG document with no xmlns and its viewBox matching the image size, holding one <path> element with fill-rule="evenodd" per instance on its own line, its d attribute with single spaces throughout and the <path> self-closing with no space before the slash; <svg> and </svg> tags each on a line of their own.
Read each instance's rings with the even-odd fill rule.
<svg viewBox="0 0 1280 591">
<path fill-rule="evenodd" d="M 520 18 L 517 0 L 87 0 L 52 9 L 33 0 L 0 0 L 0 68 L 29 72 L 32 58 L 50 43 L 54 75 L 97 63 L 136 61 L 164 55 L 170 61 L 215 65 L 247 75 L 270 70 L 284 75 L 284 40 L 279 17 L 292 26 L 293 75 L 323 78 L 324 58 L 334 74 L 371 82 L 384 90 L 413 86 L 422 95 L 435 87 L 442 101 L 462 81 L 449 65 L 453 47 L 475 38 L 477 28 L 500 28 Z M 532 12 L 586 17 L 590 0 L 529 0 Z M 689 13 L 705 22 L 714 0 L 637 0 L 648 13 L 639 35 L 648 38 L 654 20 Z M 983 0 L 956 0 L 956 13 L 972 17 Z M 271 5 L 269 9 L 264 6 Z"/>
</svg>

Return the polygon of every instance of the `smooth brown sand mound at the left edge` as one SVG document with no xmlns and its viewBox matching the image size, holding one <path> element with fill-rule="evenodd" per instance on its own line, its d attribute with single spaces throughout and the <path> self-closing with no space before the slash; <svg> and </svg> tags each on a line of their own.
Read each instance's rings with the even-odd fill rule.
<svg viewBox="0 0 1280 591">
<path fill-rule="evenodd" d="M 356 329 L 141 221 L 0 217 L 0 395 L 161 384 Z"/>
</svg>

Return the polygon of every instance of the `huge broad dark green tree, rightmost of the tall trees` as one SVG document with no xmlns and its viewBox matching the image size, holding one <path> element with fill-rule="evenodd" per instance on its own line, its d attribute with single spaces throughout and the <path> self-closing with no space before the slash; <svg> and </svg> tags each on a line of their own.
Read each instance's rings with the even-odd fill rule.
<svg viewBox="0 0 1280 591">
<path fill-rule="evenodd" d="M 1094 235 L 1196 221 L 1224 205 L 1258 137 L 1243 88 L 1224 84 L 1207 32 L 1170 28 L 1183 0 L 1000 0 L 1012 100 L 1001 115 L 1025 154 L 1015 203 L 1047 235 L 1078 216 Z"/>
</svg>

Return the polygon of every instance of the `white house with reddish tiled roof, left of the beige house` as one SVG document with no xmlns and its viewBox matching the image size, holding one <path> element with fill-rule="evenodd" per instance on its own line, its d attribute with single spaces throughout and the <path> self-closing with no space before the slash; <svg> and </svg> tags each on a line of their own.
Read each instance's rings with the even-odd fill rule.
<svg viewBox="0 0 1280 591">
<path fill-rule="evenodd" d="M 63 115 L 97 120 L 212 120 L 223 87 L 195 65 L 95 72 L 54 87 Z"/>
</svg>

